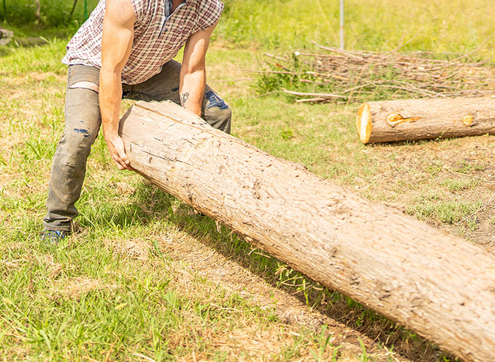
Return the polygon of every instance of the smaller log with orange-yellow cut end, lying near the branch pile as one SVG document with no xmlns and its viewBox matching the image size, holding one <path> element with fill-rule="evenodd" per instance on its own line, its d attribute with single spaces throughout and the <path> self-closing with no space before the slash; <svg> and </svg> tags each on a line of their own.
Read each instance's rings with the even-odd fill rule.
<svg viewBox="0 0 495 362">
<path fill-rule="evenodd" d="M 356 129 L 364 144 L 495 134 L 495 99 L 441 98 L 363 103 Z"/>
</svg>

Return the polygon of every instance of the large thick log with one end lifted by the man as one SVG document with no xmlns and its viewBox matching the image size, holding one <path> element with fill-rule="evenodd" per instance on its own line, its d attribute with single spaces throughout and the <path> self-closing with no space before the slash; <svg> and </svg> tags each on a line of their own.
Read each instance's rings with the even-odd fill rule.
<svg viewBox="0 0 495 362">
<path fill-rule="evenodd" d="M 465 361 L 495 356 L 495 257 L 233 136 L 173 103 L 138 102 L 131 165 L 294 269 Z"/>
</svg>

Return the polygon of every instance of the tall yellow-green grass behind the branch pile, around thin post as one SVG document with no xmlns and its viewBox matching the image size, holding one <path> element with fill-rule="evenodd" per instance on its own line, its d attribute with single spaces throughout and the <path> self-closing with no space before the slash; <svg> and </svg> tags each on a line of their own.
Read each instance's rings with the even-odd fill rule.
<svg viewBox="0 0 495 362">
<path fill-rule="evenodd" d="M 313 48 L 310 40 L 339 45 L 339 2 L 317 0 L 226 0 L 219 34 L 237 43 L 255 43 L 268 49 Z M 491 34 L 485 21 L 488 0 L 440 0 L 414 4 L 392 0 L 347 0 L 347 49 L 468 52 Z M 469 16 L 465 16 L 469 14 Z M 462 19 L 462 26 L 459 21 Z M 484 49 L 493 56 L 492 39 Z"/>
</svg>

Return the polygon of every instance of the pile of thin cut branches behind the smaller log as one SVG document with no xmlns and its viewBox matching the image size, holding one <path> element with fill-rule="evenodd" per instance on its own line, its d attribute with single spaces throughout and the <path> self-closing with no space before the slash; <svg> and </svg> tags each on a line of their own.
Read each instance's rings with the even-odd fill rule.
<svg viewBox="0 0 495 362">
<path fill-rule="evenodd" d="M 394 98 L 474 97 L 494 93 L 495 72 L 469 54 L 350 52 L 264 54 L 262 91 L 281 91 L 296 102 L 358 102 Z M 450 58 L 450 59 L 449 59 Z M 490 91 L 492 88 L 492 91 Z"/>
</svg>

